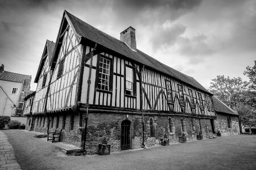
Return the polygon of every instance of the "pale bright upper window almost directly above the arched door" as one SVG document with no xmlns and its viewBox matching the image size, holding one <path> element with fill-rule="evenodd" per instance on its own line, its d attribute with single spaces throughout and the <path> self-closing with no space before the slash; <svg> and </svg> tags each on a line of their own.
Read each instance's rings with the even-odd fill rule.
<svg viewBox="0 0 256 170">
<path fill-rule="evenodd" d="M 126 66 L 125 80 L 125 94 L 134 95 L 134 69 L 129 66 Z"/>
</svg>

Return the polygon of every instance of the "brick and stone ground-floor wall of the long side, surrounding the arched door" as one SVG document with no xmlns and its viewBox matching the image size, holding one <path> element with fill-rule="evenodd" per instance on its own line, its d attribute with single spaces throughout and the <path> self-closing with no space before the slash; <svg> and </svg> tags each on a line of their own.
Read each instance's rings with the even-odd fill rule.
<svg viewBox="0 0 256 170">
<path fill-rule="evenodd" d="M 154 120 L 154 136 L 150 136 L 150 118 Z M 173 128 L 170 131 L 168 118 L 172 119 Z M 170 143 L 179 142 L 182 133 L 181 118 L 184 121 L 184 130 L 187 133 L 187 140 L 196 140 L 196 135 L 200 132 L 198 118 L 178 117 L 178 116 L 144 116 L 144 144 L 147 147 L 159 145 L 160 138 L 167 135 Z M 142 116 L 127 114 L 102 114 L 89 113 L 88 133 L 86 135 L 87 154 L 94 154 L 98 150 L 98 144 L 105 137 L 111 145 L 111 152 L 121 150 L 121 124 L 123 120 L 131 122 L 131 149 L 141 148 L 143 143 Z M 212 133 L 210 120 L 200 119 L 202 133 L 205 138 L 208 133 Z"/>
</svg>

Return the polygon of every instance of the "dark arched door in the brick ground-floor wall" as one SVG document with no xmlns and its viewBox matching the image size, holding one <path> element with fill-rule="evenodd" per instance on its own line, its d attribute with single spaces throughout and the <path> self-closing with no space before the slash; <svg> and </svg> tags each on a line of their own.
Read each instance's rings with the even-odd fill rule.
<svg viewBox="0 0 256 170">
<path fill-rule="evenodd" d="M 131 147 L 131 122 L 122 121 L 121 124 L 121 150 L 129 150 Z"/>
</svg>

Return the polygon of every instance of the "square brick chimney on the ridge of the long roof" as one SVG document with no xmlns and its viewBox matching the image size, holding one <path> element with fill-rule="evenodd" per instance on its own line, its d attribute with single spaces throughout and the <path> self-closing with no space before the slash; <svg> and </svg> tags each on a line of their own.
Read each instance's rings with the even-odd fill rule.
<svg viewBox="0 0 256 170">
<path fill-rule="evenodd" d="M 135 29 L 133 27 L 128 27 L 125 31 L 122 31 L 120 33 L 120 41 L 125 42 L 131 49 L 136 50 Z"/>
</svg>

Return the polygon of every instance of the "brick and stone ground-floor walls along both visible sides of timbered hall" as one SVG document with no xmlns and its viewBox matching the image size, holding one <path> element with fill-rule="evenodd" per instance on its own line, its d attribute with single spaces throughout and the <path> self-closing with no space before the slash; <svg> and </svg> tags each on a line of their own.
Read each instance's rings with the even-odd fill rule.
<svg viewBox="0 0 256 170">
<path fill-rule="evenodd" d="M 66 116 L 65 129 L 63 129 L 63 115 Z M 59 114 L 59 129 L 63 129 L 61 135 L 61 141 L 69 143 L 78 147 L 82 147 L 82 130 L 79 129 L 79 114 L 75 113 L 74 126 L 71 129 L 71 115 L 73 113 L 61 113 Z M 49 118 L 52 120 L 53 125 L 50 122 L 49 131 L 56 129 L 57 114 L 50 114 Z M 30 119 L 31 117 L 28 117 Z M 34 131 L 40 131 L 47 133 L 47 120 L 43 126 L 43 121 L 40 125 L 40 116 L 35 116 Z M 39 118 L 39 120 L 38 120 Z M 172 128 L 169 126 L 169 118 L 172 121 Z M 183 119 L 183 124 L 181 122 Z M 150 133 L 150 119 L 153 120 L 154 135 L 151 137 Z M 43 118 L 42 118 L 43 120 Z M 130 114 L 115 114 L 115 113 L 89 113 L 88 114 L 88 126 L 86 134 L 86 152 L 89 155 L 95 154 L 98 150 L 98 144 L 102 143 L 104 137 L 111 145 L 111 152 L 121 151 L 121 124 L 122 121 L 130 121 L 130 134 L 131 134 L 131 149 L 141 148 L 143 143 L 143 130 L 142 130 L 142 116 L 130 115 Z M 216 122 L 216 121 L 215 121 Z M 32 121 L 31 121 L 32 123 Z M 160 138 L 164 135 L 170 139 L 170 143 L 179 142 L 179 136 L 182 133 L 182 126 L 184 133 L 187 134 L 187 141 L 196 140 L 196 135 L 201 131 L 204 138 L 207 138 L 208 133 L 212 133 L 212 126 L 209 119 L 180 117 L 180 116 L 144 116 L 144 144 L 147 147 L 156 146 L 160 143 Z M 216 125 L 215 125 L 216 126 Z M 28 129 L 28 121 L 26 129 Z"/>
</svg>

